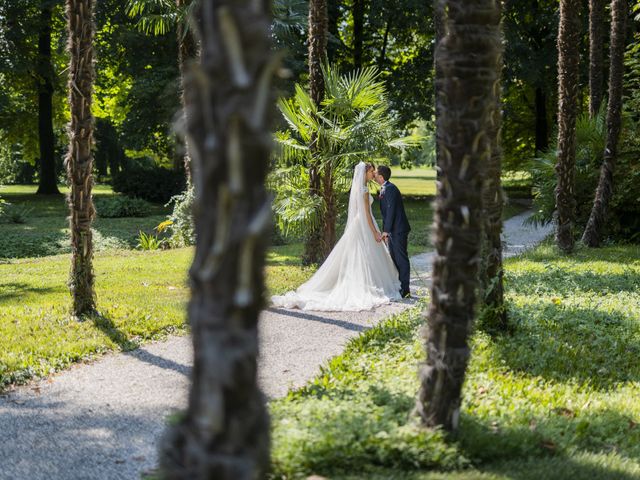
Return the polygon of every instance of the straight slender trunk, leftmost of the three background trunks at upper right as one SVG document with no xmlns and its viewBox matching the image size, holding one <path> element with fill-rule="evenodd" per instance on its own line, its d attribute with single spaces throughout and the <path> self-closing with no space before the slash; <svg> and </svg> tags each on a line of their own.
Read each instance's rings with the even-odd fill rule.
<svg viewBox="0 0 640 480">
<path fill-rule="evenodd" d="M 560 0 L 558 30 L 558 159 L 556 173 L 556 244 L 565 253 L 575 241 L 576 118 L 578 115 L 578 58 L 582 0 Z"/>
</svg>

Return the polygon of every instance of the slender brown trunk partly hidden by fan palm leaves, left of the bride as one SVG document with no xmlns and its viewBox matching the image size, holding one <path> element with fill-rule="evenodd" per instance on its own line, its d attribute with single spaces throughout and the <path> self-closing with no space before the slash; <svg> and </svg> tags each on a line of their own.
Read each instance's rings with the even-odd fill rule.
<svg viewBox="0 0 640 480">
<path fill-rule="evenodd" d="M 327 55 L 327 0 L 309 2 L 309 93 L 311 99 L 320 106 L 324 98 L 324 76 L 322 62 Z M 317 155 L 316 136 L 309 145 L 311 164 L 309 166 L 309 194 L 322 196 L 321 164 Z M 303 261 L 306 264 L 320 263 L 324 252 L 324 223 L 320 223 L 307 235 Z"/>
</svg>

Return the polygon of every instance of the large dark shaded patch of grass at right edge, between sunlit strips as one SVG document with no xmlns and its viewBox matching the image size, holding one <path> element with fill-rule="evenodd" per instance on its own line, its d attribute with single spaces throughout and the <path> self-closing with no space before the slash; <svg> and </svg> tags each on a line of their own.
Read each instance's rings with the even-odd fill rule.
<svg viewBox="0 0 640 480">
<path fill-rule="evenodd" d="M 516 372 L 600 390 L 640 381 L 640 325 L 622 312 L 535 302 L 509 305 L 509 316 L 514 333 L 493 352 Z"/>
</svg>

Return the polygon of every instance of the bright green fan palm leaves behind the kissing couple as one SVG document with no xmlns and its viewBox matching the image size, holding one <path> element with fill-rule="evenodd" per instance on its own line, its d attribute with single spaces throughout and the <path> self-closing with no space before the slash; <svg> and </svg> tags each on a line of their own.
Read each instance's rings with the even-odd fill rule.
<svg viewBox="0 0 640 480">
<path fill-rule="evenodd" d="M 321 196 L 309 193 L 305 173 L 312 138 L 317 142 L 320 173 L 332 172 L 332 188 L 338 198 L 348 191 L 356 163 L 388 156 L 420 141 L 417 136 L 397 137 L 385 85 L 375 67 L 341 74 L 325 66 L 323 74 L 325 96 L 320 108 L 300 85 L 296 85 L 293 97 L 278 102 L 288 128 L 275 134 L 270 187 L 276 195 L 278 224 L 289 233 L 317 226 L 325 213 Z"/>
</svg>

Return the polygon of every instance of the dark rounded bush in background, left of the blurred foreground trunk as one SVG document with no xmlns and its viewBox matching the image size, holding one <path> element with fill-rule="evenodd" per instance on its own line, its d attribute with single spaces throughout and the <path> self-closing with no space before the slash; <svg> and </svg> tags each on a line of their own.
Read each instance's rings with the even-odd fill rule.
<svg viewBox="0 0 640 480">
<path fill-rule="evenodd" d="M 115 192 L 150 202 L 167 203 L 185 188 L 184 173 L 157 165 L 131 165 L 114 175 Z"/>
</svg>

